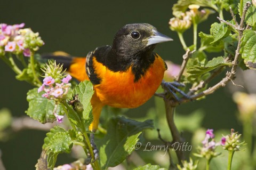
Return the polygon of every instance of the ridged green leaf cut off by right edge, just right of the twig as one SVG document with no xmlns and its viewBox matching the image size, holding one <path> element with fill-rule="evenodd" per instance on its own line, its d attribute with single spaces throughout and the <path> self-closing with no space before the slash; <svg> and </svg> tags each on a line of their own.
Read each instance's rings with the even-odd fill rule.
<svg viewBox="0 0 256 170">
<path fill-rule="evenodd" d="M 256 69 L 256 31 L 244 31 L 240 53 L 245 65 L 251 69 Z"/>
</svg>

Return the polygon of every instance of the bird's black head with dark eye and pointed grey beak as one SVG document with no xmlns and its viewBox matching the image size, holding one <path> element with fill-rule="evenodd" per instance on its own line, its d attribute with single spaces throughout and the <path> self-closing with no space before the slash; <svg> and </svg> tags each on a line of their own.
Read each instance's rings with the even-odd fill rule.
<svg viewBox="0 0 256 170">
<path fill-rule="evenodd" d="M 119 56 L 134 58 L 153 52 L 157 43 L 172 41 L 148 23 L 132 23 L 119 29 L 113 42 L 113 50 Z"/>
</svg>

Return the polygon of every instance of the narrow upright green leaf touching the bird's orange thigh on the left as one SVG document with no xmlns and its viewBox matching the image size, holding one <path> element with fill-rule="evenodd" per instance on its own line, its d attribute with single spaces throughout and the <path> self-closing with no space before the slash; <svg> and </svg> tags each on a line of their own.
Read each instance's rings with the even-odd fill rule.
<svg viewBox="0 0 256 170">
<path fill-rule="evenodd" d="M 90 81 L 87 80 L 79 83 L 73 91 L 74 95 L 78 94 L 79 101 L 83 104 L 83 119 L 86 127 L 89 126 L 93 120 L 93 116 L 91 113 L 91 98 L 93 93 L 93 85 Z"/>
</svg>

